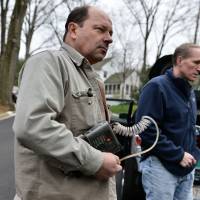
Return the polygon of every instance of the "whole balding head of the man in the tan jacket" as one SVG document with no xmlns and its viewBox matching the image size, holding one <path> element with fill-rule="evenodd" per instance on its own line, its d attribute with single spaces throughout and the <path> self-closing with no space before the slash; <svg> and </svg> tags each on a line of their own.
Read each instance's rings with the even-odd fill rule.
<svg viewBox="0 0 200 200">
<path fill-rule="evenodd" d="M 112 42 L 112 22 L 93 6 L 74 9 L 66 22 L 64 42 L 76 49 L 91 64 L 101 61 Z"/>
</svg>

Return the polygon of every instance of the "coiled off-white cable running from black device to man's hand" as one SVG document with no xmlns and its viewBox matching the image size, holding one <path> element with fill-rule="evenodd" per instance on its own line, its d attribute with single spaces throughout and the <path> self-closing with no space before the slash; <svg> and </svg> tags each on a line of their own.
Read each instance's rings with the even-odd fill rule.
<svg viewBox="0 0 200 200">
<path fill-rule="evenodd" d="M 159 128 L 158 128 L 156 121 L 149 116 L 143 116 L 142 119 L 137 124 L 135 124 L 131 127 L 125 127 L 125 126 L 121 125 L 120 123 L 113 124 L 113 132 L 115 134 L 126 136 L 126 137 L 132 137 L 134 135 L 138 136 L 140 133 L 142 133 L 144 130 L 146 130 L 151 123 L 153 123 L 156 128 L 156 139 L 155 139 L 154 143 L 152 144 L 152 146 L 149 147 L 148 149 L 145 149 L 144 151 L 127 155 L 127 156 L 121 158 L 120 161 L 124 161 L 124 160 L 132 158 L 132 157 L 140 156 L 144 153 L 151 151 L 157 144 L 160 133 L 159 133 Z"/>
</svg>

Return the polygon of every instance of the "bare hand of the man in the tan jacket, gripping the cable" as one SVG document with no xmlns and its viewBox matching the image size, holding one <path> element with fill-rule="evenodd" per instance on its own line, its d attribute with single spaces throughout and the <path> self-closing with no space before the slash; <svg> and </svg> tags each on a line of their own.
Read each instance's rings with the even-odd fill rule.
<svg viewBox="0 0 200 200">
<path fill-rule="evenodd" d="M 96 173 L 97 179 L 107 180 L 122 170 L 119 157 L 112 153 L 103 153 L 104 160 L 100 169 Z"/>
</svg>

